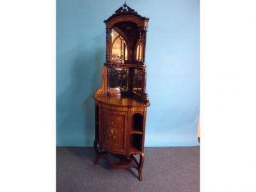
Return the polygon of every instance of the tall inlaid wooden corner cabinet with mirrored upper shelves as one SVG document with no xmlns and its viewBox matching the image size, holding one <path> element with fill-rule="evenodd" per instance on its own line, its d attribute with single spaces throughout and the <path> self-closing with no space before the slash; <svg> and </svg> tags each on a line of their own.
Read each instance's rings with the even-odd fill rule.
<svg viewBox="0 0 256 192">
<path fill-rule="evenodd" d="M 145 48 L 148 18 L 121 6 L 104 20 L 106 62 L 95 99 L 95 164 L 136 168 L 142 180 L 147 107 Z M 135 156 L 140 157 L 140 161 Z"/>
</svg>

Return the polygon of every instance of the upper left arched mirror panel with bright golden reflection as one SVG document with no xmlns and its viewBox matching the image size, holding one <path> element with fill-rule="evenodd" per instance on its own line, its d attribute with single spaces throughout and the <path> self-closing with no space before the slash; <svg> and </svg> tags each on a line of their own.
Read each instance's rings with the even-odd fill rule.
<svg viewBox="0 0 256 192">
<path fill-rule="evenodd" d="M 114 63 L 124 63 L 127 60 L 127 45 L 115 30 L 112 30 L 112 58 Z"/>
</svg>

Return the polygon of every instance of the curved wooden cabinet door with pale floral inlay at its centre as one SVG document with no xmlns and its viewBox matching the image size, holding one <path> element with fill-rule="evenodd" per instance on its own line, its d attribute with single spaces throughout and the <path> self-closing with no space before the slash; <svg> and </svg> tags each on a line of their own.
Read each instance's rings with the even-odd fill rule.
<svg viewBox="0 0 256 192">
<path fill-rule="evenodd" d="M 125 152 L 127 113 L 102 109 L 102 145 L 112 152 Z"/>
</svg>

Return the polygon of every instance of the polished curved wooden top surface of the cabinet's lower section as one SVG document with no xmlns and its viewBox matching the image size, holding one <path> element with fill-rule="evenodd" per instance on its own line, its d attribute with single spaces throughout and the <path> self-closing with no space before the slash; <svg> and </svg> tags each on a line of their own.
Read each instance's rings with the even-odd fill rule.
<svg viewBox="0 0 256 192">
<path fill-rule="evenodd" d="M 98 100 L 99 102 L 103 102 L 105 104 L 111 104 L 116 106 L 134 106 L 134 107 L 147 107 L 149 104 L 144 104 L 136 99 L 131 97 L 109 97 L 109 96 L 93 96 L 94 99 Z"/>
</svg>

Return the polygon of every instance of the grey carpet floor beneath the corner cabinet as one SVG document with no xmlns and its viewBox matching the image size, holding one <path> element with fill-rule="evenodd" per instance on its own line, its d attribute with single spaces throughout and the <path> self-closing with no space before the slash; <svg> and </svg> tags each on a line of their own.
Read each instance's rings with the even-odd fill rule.
<svg viewBox="0 0 256 192">
<path fill-rule="evenodd" d="M 92 147 L 57 147 L 56 191 L 200 191 L 200 147 L 146 147 L 143 181 L 135 169 L 94 165 Z"/>
</svg>

